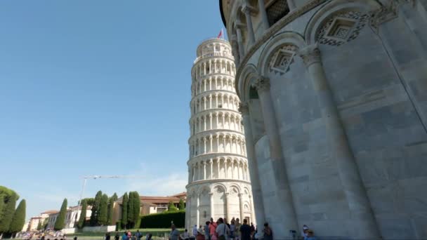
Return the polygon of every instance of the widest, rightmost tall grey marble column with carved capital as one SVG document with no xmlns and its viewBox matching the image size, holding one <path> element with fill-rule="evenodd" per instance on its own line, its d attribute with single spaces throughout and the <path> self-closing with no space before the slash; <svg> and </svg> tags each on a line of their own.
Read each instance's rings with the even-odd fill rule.
<svg viewBox="0 0 427 240">
<path fill-rule="evenodd" d="M 346 131 L 343 128 L 338 109 L 329 88 L 326 74 L 322 66 L 320 50 L 317 44 L 307 46 L 299 51 L 308 69 L 311 83 L 317 94 L 317 104 L 322 119 L 326 125 L 329 151 L 336 160 L 341 185 L 343 186 L 350 216 L 353 224 L 357 225 L 357 239 L 379 239 L 379 229 L 372 213 L 366 190 L 360 178 L 357 165 L 348 143 Z"/>
</svg>

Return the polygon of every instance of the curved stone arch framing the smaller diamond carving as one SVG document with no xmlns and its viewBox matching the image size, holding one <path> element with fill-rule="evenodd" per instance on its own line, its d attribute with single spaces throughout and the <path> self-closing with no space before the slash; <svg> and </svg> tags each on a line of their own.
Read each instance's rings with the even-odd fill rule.
<svg viewBox="0 0 427 240">
<path fill-rule="evenodd" d="M 272 39 L 266 44 L 261 51 L 261 57 L 258 61 L 258 72 L 261 76 L 266 76 L 268 74 L 268 68 L 270 65 L 268 62 L 272 59 L 274 55 L 277 54 L 277 51 L 284 46 L 295 46 L 296 48 L 303 48 L 306 46 L 306 41 L 304 41 L 303 36 L 296 32 L 282 32 L 272 37 Z M 292 56 L 289 56 L 291 58 Z"/>
</svg>

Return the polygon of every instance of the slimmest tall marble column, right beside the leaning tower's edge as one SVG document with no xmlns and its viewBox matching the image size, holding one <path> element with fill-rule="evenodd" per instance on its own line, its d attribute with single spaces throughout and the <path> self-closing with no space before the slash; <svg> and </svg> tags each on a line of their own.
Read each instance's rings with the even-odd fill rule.
<svg viewBox="0 0 427 240">
<path fill-rule="evenodd" d="M 249 116 L 249 106 L 247 105 L 247 103 L 240 103 L 239 112 L 242 113 L 243 125 L 244 125 L 244 136 L 248 146 L 247 159 L 249 164 L 249 171 L 251 171 L 251 186 L 252 186 L 252 194 L 254 194 L 256 225 L 263 226 L 265 222 L 263 194 L 261 192 L 261 184 L 260 184 L 259 175 L 258 175 L 258 164 L 256 162 L 254 138 L 252 136 L 252 131 L 251 131 L 252 129 L 251 118 Z"/>
</svg>

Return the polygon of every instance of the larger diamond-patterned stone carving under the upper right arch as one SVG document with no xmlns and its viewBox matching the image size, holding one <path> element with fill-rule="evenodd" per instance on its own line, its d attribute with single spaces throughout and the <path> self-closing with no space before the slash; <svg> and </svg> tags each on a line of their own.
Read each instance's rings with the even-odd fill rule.
<svg viewBox="0 0 427 240">
<path fill-rule="evenodd" d="M 317 30 L 316 42 L 331 46 L 340 46 L 357 38 L 369 21 L 369 13 L 356 11 L 338 12 L 329 17 Z"/>
</svg>

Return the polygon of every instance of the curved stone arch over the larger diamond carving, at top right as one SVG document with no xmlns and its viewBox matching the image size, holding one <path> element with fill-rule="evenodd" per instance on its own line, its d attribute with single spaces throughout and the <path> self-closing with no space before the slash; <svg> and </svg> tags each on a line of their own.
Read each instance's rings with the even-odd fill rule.
<svg viewBox="0 0 427 240">
<path fill-rule="evenodd" d="M 306 30 L 304 31 L 307 45 L 316 43 L 316 33 L 318 29 L 336 13 L 341 11 L 368 13 L 369 11 L 374 11 L 379 8 L 381 8 L 381 5 L 378 1 L 374 0 L 337 0 L 329 2 L 329 4 L 318 9 L 308 22 Z"/>
</svg>

